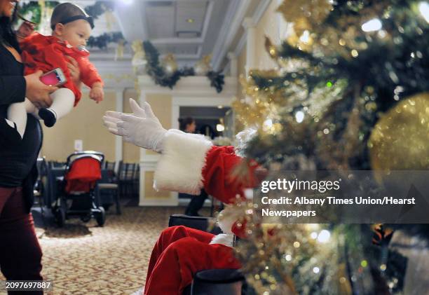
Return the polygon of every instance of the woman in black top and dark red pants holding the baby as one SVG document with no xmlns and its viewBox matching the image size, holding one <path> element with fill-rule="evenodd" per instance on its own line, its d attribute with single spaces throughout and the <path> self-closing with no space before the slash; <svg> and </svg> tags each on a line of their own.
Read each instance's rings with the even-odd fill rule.
<svg viewBox="0 0 429 295">
<path fill-rule="evenodd" d="M 41 248 L 30 208 L 37 178 L 36 159 L 42 142 L 39 121 L 28 116 L 25 136 L 16 142 L 16 126 L 6 120 L 8 106 L 27 97 L 38 107 L 52 104 L 57 90 L 40 81 L 42 71 L 24 76 L 20 46 L 12 29 L 18 0 L 0 0 L 0 269 L 6 280 L 43 280 Z M 70 64 L 74 78 L 79 69 Z M 43 294 L 28 291 L 26 294 Z"/>
</svg>

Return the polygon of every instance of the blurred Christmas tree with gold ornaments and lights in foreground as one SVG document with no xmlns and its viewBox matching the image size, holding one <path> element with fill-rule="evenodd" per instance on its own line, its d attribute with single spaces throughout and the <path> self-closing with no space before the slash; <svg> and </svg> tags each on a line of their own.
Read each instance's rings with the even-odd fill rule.
<svg viewBox="0 0 429 295">
<path fill-rule="evenodd" d="M 245 155 L 268 168 L 428 170 L 429 4 L 285 0 L 293 29 L 250 71 L 234 109 L 257 128 Z M 238 202 L 247 240 L 237 254 L 255 294 L 402 294 L 407 257 L 393 230 L 424 225 L 266 225 Z M 260 226 L 260 224 L 264 224 Z"/>
</svg>

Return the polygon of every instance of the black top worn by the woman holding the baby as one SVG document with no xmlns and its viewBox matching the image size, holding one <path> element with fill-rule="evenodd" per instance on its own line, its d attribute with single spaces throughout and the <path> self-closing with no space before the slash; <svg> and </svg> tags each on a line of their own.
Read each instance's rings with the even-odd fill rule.
<svg viewBox="0 0 429 295">
<path fill-rule="evenodd" d="M 0 120 L 14 102 L 25 99 L 26 83 L 24 66 L 0 43 Z M 39 153 L 42 132 L 39 121 L 27 115 L 27 128 L 18 144 L 8 142 L 0 130 L 0 187 L 22 186 L 27 206 L 32 205 L 32 184 L 36 180 L 36 158 Z"/>
</svg>

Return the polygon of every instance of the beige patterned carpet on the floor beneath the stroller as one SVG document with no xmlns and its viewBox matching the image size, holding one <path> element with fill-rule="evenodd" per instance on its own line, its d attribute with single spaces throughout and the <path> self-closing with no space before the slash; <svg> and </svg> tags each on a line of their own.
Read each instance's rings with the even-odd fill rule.
<svg viewBox="0 0 429 295">
<path fill-rule="evenodd" d="M 144 285 L 159 233 L 168 226 L 168 217 L 184 208 L 122 209 L 119 216 L 111 209 L 102 228 L 95 220 L 85 224 L 79 219 L 68 220 L 64 228 L 36 228 L 43 277 L 53 282 L 50 294 L 132 294 Z"/>
</svg>

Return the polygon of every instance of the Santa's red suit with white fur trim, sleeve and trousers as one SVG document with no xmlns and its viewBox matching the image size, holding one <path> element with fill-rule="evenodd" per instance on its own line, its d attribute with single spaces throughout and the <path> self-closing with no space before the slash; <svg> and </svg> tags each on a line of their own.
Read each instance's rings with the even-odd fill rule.
<svg viewBox="0 0 429 295">
<path fill-rule="evenodd" d="M 232 177 L 231 172 L 241 160 L 233 146 L 212 146 L 202 136 L 169 130 L 154 186 L 193 195 L 204 188 L 214 198 L 233 203 L 237 196 L 243 198 L 244 188 L 255 184 L 252 172 L 246 183 Z M 256 167 L 250 165 L 250 170 Z M 231 217 L 219 222 L 224 231 L 220 235 L 185 226 L 165 229 L 151 254 L 144 294 L 182 294 L 199 270 L 240 268 L 232 249 L 235 221 Z"/>
</svg>

